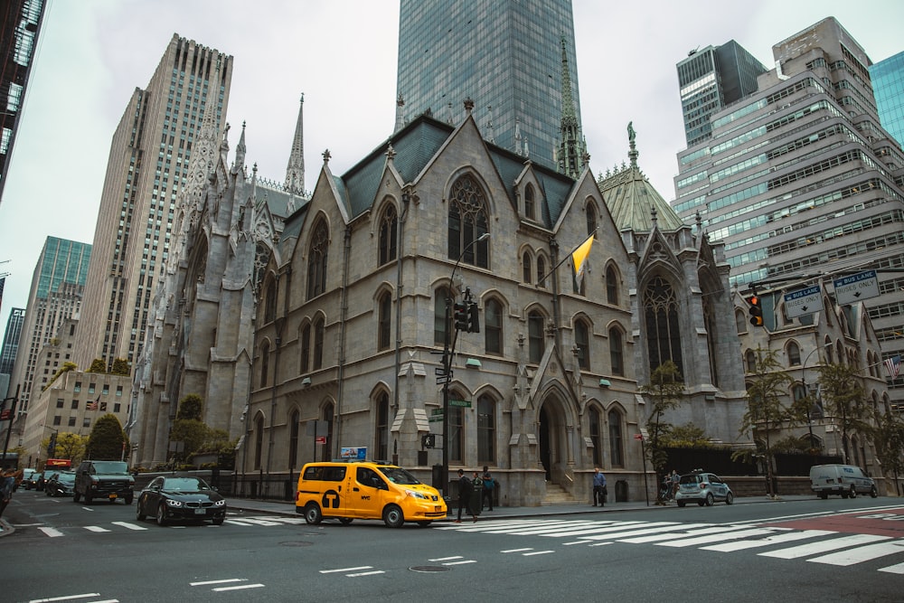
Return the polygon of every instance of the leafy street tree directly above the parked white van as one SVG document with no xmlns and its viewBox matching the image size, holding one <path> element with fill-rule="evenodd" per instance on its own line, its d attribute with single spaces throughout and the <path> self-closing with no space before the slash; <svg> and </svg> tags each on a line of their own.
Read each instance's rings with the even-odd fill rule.
<svg viewBox="0 0 904 603">
<path fill-rule="evenodd" d="M 870 409 L 858 369 L 849 364 L 824 364 L 819 367 L 819 387 L 825 413 L 842 430 L 844 462 L 851 457 L 848 445 L 853 432 L 869 434 Z"/>
</svg>

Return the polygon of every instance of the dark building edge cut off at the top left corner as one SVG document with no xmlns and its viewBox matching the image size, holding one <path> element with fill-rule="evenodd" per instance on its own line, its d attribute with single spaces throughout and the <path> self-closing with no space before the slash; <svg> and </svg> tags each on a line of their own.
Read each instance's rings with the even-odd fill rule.
<svg viewBox="0 0 904 603">
<path fill-rule="evenodd" d="M 38 43 L 38 33 L 44 14 L 44 0 L 4 0 L 0 3 L 0 203 L 9 158 L 13 154 L 15 132 L 22 116 L 22 103 L 32 60 Z"/>
</svg>

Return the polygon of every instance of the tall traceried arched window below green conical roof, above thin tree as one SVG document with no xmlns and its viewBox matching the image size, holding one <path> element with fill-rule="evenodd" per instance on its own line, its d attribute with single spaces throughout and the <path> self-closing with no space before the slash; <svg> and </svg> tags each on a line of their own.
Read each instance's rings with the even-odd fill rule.
<svg viewBox="0 0 904 603">
<path fill-rule="evenodd" d="M 660 364 L 671 360 L 683 375 L 678 299 L 674 289 L 664 278 L 656 277 L 646 286 L 644 312 L 650 371 L 655 371 Z"/>
</svg>

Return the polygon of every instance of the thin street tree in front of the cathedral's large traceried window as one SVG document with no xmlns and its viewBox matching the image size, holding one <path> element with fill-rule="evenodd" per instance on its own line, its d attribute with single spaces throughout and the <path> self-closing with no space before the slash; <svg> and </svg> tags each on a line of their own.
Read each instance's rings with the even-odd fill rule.
<svg viewBox="0 0 904 603">
<path fill-rule="evenodd" d="M 640 391 L 649 396 L 650 414 L 646 418 L 646 431 L 649 441 L 646 444 L 646 456 L 653 465 L 657 479 L 662 480 L 665 472 L 665 464 L 668 455 L 665 452 L 665 444 L 669 434 L 673 430 L 671 423 L 665 422 L 664 414 L 681 406 L 684 395 L 684 384 L 678 365 L 671 360 L 656 367 L 650 375 L 650 382 L 640 388 Z M 657 504 L 663 504 L 660 498 Z"/>
</svg>

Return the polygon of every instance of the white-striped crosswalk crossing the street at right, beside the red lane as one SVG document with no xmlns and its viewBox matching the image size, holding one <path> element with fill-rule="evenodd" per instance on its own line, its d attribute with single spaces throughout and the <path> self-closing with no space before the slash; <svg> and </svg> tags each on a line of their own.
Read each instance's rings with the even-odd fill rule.
<svg viewBox="0 0 904 603">
<path fill-rule="evenodd" d="M 753 523 L 680 523 L 605 520 L 498 520 L 483 523 L 437 525 L 435 530 L 469 533 L 541 536 L 559 539 L 563 546 L 602 546 L 614 543 L 648 544 L 671 548 L 696 548 L 730 553 L 755 551 L 777 559 L 803 559 L 832 566 L 852 566 L 867 561 L 897 561 L 878 570 L 904 574 L 904 538 L 871 533 L 844 533 L 758 525 Z M 533 551 L 548 554 L 552 551 Z M 895 557 L 898 559 L 895 559 Z"/>
</svg>

